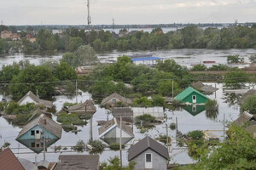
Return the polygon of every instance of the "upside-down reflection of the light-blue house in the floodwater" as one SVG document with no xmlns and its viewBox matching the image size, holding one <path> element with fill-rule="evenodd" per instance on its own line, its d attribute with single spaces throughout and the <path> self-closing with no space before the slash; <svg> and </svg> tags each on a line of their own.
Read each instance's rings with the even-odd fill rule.
<svg viewBox="0 0 256 170">
<path fill-rule="evenodd" d="M 59 139 L 45 139 L 45 148 L 55 144 Z M 25 145 L 28 149 L 39 154 L 44 150 L 44 140 L 43 139 L 17 139 L 20 144 Z"/>
</svg>

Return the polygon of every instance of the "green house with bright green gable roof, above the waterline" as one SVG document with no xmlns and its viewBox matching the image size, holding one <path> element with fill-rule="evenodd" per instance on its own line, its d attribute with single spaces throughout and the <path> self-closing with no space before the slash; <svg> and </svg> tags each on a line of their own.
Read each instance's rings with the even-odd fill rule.
<svg viewBox="0 0 256 170">
<path fill-rule="evenodd" d="M 184 103 L 190 104 L 203 104 L 208 100 L 206 95 L 201 94 L 199 91 L 195 90 L 195 88 L 191 87 L 186 88 L 182 93 L 177 94 L 174 99 L 181 100 Z"/>
</svg>

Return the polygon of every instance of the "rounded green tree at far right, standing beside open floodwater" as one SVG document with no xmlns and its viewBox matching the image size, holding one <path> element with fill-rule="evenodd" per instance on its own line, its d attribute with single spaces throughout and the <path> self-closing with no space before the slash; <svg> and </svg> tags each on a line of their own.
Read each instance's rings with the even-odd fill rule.
<svg viewBox="0 0 256 170">
<path fill-rule="evenodd" d="M 245 82 L 248 82 L 248 80 L 249 78 L 246 71 L 228 71 L 224 75 L 225 86 L 230 88 L 242 88 L 245 86 Z"/>
</svg>

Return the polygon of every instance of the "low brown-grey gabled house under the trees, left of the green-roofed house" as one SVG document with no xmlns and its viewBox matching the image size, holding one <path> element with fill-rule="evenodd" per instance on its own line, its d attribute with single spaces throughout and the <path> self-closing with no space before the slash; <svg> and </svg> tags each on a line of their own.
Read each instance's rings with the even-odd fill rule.
<svg viewBox="0 0 256 170">
<path fill-rule="evenodd" d="M 113 93 L 113 94 L 109 95 L 108 97 L 102 99 L 101 105 L 113 106 L 119 102 L 128 106 L 128 105 L 132 104 L 132 99 L 127 99 L 127 98 L 121 96 L 120 94 Z"/>
</svg>

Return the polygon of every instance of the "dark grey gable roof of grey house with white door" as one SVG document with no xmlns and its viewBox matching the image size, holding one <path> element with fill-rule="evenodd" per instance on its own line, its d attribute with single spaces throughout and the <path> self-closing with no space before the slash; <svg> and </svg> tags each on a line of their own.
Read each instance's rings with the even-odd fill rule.
<svg viewBox="0 0 256 170">
<path fill-rule="evenodd" d="M 136 156 L 140 155 L 143 151 L 148 149 L 154 150 L 156 153 L 166 159 L 169 158 L 168 150 L 165 146 L 146 136 L 144 139 L 137 142 L 137 144 L 134 144 L 131 146 L 131 148 L 129 148 L 128 161 L 131 161 Z"/>
</svg>

